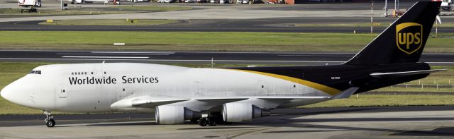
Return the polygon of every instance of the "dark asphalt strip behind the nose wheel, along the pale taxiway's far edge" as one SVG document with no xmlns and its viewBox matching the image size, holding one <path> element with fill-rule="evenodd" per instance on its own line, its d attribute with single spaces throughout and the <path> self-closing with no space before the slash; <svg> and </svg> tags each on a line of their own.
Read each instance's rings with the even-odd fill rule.
<svg viewBox="0 0 454 139">
<path fill-rule="evenodd" d="M 406 106 L 406 107 L 334 107 L 334 108 L 309 108 L 309 109 L 273 109 L 272 115 L 317 115 L 317 114 L 341 114 L 347 112 L 375 113 L 375 112 L 398 112 L 398 111 L 451 111 L 454 106 Z M 116 113 L 116 114 L 54 114 L 55 121 L 59 124 L 74 123 L 99 123 L 106 121 L 154 121 L 155 114 Z M 11 126 L 39 126 L 44 125 L 44 114 L 32 115 L 0 115 L 0 127 Z M 453 119 L 454 118 L 450 118 Z M 330 121 L 326 119 L 326 121 Z"/>
</svg>

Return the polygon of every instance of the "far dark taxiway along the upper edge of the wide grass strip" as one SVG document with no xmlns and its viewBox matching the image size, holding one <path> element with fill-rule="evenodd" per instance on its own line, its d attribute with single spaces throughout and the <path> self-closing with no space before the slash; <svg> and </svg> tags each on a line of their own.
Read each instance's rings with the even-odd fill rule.
<svg viewBox="0 0 454 139">
<path fill-rule="evenodd" d="M 396 18 L 375 18 L 376 23 L 392 23 Z M 370 32 L 370 27 L 297 27 L 296 24 L 370 23 L 370 18 L 266 18 L 179 20 L 165 25 L 38 25 L 45 20 L 0 23 L 2 31 L 157 31 L 157 32 Z M 454 18 L 443 19 L 454 22 Z M 382 32 L 385 27 L 375 27 Z M 432 30 L 435 31 L 435 30 Z M 454 32 L 454 28 L 438 28 L 438 32 Z"/>
</svg>

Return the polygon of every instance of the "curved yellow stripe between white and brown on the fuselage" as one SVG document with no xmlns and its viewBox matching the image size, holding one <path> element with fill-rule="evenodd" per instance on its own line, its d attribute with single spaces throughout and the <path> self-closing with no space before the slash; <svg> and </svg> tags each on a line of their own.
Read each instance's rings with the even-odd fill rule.
<svg viewBox="0 0 454 139">
<path fill-rule="evenodd" d="M 259 72 L 259 71 L 239 70 L 239 69 L 230 69 L 230 70 L 243 71 L 243 72 L 248 72 L 248 73 L 256 73 L 256 74 L 260 74 L 260 75 L 267 75 L 267 76 L 270 76 L 270 77 L 279 78 L 279 79 L 282 79 L 282 80 L 288 80 L 288 81 L 293 82 L 293 83 L 299 83 L 301 85 L 306 85 L 308 87 L 313 87 L 314 89 L 321 90 L 323 92 L 328 93 L 329 95 L 336 95 L 339 92 L 341 92 L 341 90 L 337 90 L 336 88 L 333 88 L 333 87 L 329 87 L 329 86 L 326 86 L 326 85 L 321 85 L 319 83 L 314 83 L 314 82 L 307 81 L 307 80 L 301 80 L 299 78 L 289 77 L 289 76 L 286 76 L 286 75 L 279 75 L 279 74 L 273 74 L 273 73 L 263 73 L 263 72 Z"/>
</svg>

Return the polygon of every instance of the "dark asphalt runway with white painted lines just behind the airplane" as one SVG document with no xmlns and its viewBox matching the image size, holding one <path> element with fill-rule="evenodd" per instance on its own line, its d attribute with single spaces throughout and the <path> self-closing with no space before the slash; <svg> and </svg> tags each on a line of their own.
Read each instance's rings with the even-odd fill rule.
<svg viewBox="0 0 454 139">
<path fill-rule="evenodd" d="M 342 64 L 354 53 L 298 52 L 116 52 L 0 50 L 0 61 L 42 61 L 57 63 L 137 62 L 155 64 Z M 421 62 L 454 65 L 454 54 L 423 54 Z"/>
</svg>

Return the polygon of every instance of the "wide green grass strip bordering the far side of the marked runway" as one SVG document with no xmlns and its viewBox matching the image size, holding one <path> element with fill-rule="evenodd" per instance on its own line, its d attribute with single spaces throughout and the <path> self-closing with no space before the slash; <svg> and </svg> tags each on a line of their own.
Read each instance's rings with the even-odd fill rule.
<svg viewBox="0 0 454 139">
<path fill-rule="evenodd" d="M 26 40 L 24 40 L 24 36 Z M 106 37 L 112 36 L 112 37 Z M 440 33 L 424 52 L 454 52 L 454 40 Z M 444 36 L 444 37 L 443 37 Z M 370 34 L 307 32 L 101 32 L 0 31 L 0 49 L 109 49 L 165 51 L 358 52 Z M 126 46 L 113 46 L 114 43 Z"/>
</svg>

